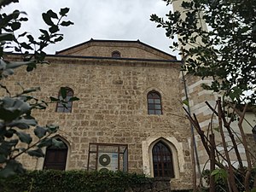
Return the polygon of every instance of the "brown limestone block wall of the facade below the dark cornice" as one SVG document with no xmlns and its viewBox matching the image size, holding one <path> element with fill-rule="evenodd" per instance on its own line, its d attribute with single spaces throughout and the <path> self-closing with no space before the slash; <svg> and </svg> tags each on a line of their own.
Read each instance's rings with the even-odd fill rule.
<svg viewBox="0 0 256 192">
<path fill-rule="evenodd" d="M 56 113 L 55 104 L 33 113 L 41 125 L 60 125 L 58 135 L 68 146 L 66 170 L 86 168 L 89 143 L 120 143 L 128 144 L 128 171 L 153 177 L 150 147 L 164 140 L 176 154 L 172 189 L 191 189 L 190 131 L 180 104 L 179 63 L 61 56 L 47 60 L 50 65 L 38 66 L 32 73 L 20 69 L 5 84 L 11 93 L 20 89 L 15 82 L 24 87 L 40 86 L 35 96 L 44 100 L 58 96 L 61 86 L 67 86 L 80 98 L 73 102 L 72 113 Z M 150 90 L 160 92 L 162 115 L 148 115 Z M 145 142 L 148 148 L 143 148 Z M 29 169 L 44 165 L 44 159 L 26 155 L 22 162 Z M 149 167 L 143 166 L 145 162 Z"/>
</svg>

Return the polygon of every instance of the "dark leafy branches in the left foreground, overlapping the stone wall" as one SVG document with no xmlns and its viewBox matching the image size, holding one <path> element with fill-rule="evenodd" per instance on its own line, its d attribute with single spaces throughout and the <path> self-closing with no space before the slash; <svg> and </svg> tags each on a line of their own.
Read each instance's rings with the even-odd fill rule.
<svg viewBox="0 0 256 192">
<path fill-rule="evenodd" d="M 18 1 L 0 1 L 0 9 L 9 3 L 16 2 Z M 61 26 L 73 25 L 72 21 L 63 20 L 68 11 L 69 9 L 65 8 L 61 9 L 59 14 L 52 10 L 43 13 L 43 20 L 49 28 L 39 29 L 41 35 L 38 40 L 33 38 L 29 32 L 17 34 L 22 22 L 28 20 L 25 12 L 15 10 L 9 15 L 0 14 L 0 89 L 2 92 L 6 92 L 6 96 L 0 98 L 0 177 L 9 177 L 17 172 L 25 171 L 16 160 L 20 154 L 44 157 L 41 148 L 52 144 L 61 147 L 61 143 L 50 138 L 59 127 L 57 125 L 38 125 L 38 121 L 32 116 L 32 110 L 45 109 L 49 103 L 64 101 L 65 94 L 62 96 L 62 100 L 51 97 L 54 98 L 54 101 L 53 99 L 49 102 L 39 101 L 30 95 L 32 92 L 40 90 L 38 87 L 25 89 L 20 84 L 22 91 L 13 95 L 3 82 L 8 80 L 9 75 L 15 73 L 17 67 L 26 66 L 26 71 L 30 72 L 37 67 L 37 64 L 45 62 L 44 48 L 62 40 Z M 23 56 L 22 61 L 5 60 L 6 51 L 20 53 Z M 77 97 L 71 99 L 79 100 Z M 29 131 L 32 128 L 37 137 L 35 141 L 30 135 L 32 131 Z"/>
</svg>

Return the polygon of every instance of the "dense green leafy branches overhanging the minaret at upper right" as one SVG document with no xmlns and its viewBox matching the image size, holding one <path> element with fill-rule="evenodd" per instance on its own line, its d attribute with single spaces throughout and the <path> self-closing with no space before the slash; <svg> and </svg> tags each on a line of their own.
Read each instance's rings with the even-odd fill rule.
<svg viewBox="0 0 256 192">
<path fill-rule="evenodd" d="M 183 69 L 202 79 L 212 77 L 207 89 L 221 91 L 234 102 L 254 104 L 256 1 L 191 0 L 181 6 L 184 11 L 170 11 L 167 20 L 157 15 L 151 15 L 151 20 L 166 29 L 168 38 L 177 35 L 180 44 L 171 48 L 183 50 Z M 250 96 L 244 96 L 245 91 Z"/>
</svg>

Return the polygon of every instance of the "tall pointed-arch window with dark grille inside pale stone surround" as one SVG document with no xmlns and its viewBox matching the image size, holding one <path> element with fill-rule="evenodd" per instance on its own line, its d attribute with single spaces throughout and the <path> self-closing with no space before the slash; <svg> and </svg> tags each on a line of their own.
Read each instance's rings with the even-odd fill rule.
<svg viewBox="0 0 256 192">
<path fill-rule="evenodd" d="M 172 151 L 165 143 L 158 142 L 152 149 L 154 177 L 174 177 Z"/>
</svg>

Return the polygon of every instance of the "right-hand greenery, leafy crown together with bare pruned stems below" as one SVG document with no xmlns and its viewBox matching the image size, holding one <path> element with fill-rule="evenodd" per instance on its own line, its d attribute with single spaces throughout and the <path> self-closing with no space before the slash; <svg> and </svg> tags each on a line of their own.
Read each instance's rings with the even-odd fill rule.
<svg viewBox="0 0 256 192">
<path fill-rule="evenodd" d="M 183 70 L 201 79 L 212 79 L 212 84 L 203 84 L 203 88 L 220 93 L 215 110 L 208 102 L 207 106 L 218 116 L 218 132 L 220 133 L 223 151 L 216 148 L 212 127 L 213 118 L 205 135 L 201 125 L 185 109 L 190 123 L 201 137 L 211 162 L 210 187 L 212 191 L 250 191 L 254 177 L 247 136 L 242 127 L 247 105 L 256 104 L 256 1 L 253 0 L 164 0 L 167 5 L 177 3 L 180 9 L 166 14 L 167 19 L 151 15 L 157 27 L 166 29 L 166 36 L 178 38 L 172 49 L 181 49 Z M 228 106 L 233 111 L 230 112 Z M 243 106 L 238 110 L 238 106 Z M 242 112 L 241 112 L 242 111 Z M 236 115 L 234 115 L 236 113 Z M 231 122 L 239 117 L 238 143 L 231 129 Z M 224 129 L 225 128 L 225 129 Z M 252 127 L 253 128 L 253 127 Z M 224 131 L 225 134 L 224 134 Z M 233 151 L 228 149 L 227 139 L 231 140 Z M 229 140 L 229 141 L 230 141 Z M 210 144 L 210 145 L 209 145 Z M 247 168 L 237 169 L 233 166 L 230 154 L 235 154 L 240 167 L 243 167 L 238 144 L 245 148 Z M 211 146 L 211 148 L 209 147 Z M 191 147 L 192 148 L 192 147 Z M 235 153 L 234 153 L 235 152 Z M 222 154 L 223 153 L 223 154 Z M 232 157 L 233 158 L 233 157 Z M 234 158 L 234 159 L 235 159 Z M 221 160 L 221 161 L 220 161 Z M 214 170 L 218 166 L 219 169 Z M 210 175 L 210 174 L 209 174 Z M 208 176 L 209 176 L 208 175 Z M 255 186 L 256 179 L 254 181 Z M 229 183 L 229 184 L 227 184 Z M 216 188 L 214 187 L 216 184 Z M 194 183 L 194 190 L 196 183 Z"/>
</svg>

